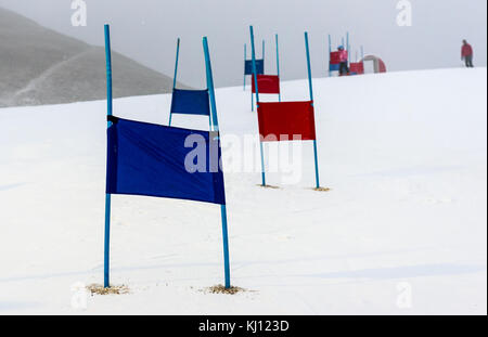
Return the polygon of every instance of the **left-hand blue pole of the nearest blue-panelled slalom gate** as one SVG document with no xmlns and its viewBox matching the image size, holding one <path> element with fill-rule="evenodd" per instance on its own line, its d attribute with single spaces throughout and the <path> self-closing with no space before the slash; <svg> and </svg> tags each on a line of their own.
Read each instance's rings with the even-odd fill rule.
<svg viewBox="0 0 488 337">
<path fill-rule="evenodd" d="M 106 115 L 112 116 L 112 51 L 111 51 L 111 28 L 105 25 L 105 59 L 106 59 Z M 112 126 L 112 121 L 107 121 L 107 128 Z M 110 242 L 111 242 L 111 204 L 112 196 L 110 193 L 105 194 L 105 243 L 104 243 L 104 263 L 103 263 L 103 286 L 108 288 L 110 284 Z"/>
</svg>

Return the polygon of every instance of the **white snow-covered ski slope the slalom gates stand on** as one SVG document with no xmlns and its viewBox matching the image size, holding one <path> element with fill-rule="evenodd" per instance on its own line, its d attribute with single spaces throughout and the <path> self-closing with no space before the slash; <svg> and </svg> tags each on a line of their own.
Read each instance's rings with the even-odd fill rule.
<svg viewBox="0 0 488 337">
<path fill-rule="evenodd" d="M 280 189 L 240 171 L 253 148 L 226 140 L 257 137 L 257 116 L 242 87 L 217 90 L 236 160 L 231 276 L 248 291 L 203 291 L 223 283 L 218 206 L 113 196 L 112 283 L 131 294 L 86 307 L 77 285 L 103 282 L 106 103 L 0 109 L 0 314 L 486 314 L 486 68 L 314 79 L 328 193 L 311 190 L 310 143 L 299 180 L 269 174 Z M 305 80 L 282 90 L 308 100 Z M 169 104 L 119 99 L 114 114 L 166 125 Z"/>
</svg>

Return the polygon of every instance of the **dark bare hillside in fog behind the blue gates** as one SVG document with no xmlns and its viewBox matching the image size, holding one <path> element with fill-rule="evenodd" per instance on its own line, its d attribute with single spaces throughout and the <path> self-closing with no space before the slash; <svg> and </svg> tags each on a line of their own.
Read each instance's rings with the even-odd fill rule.
<svg viewBox="0 0 488 337">
<path fill-rule="evenodd" d="M 113 52 L 114 96 L 167 93 L 172 79 Z M 0 9 L 0 107 L 101 100 L 105 51 Z"/>
</svg>

